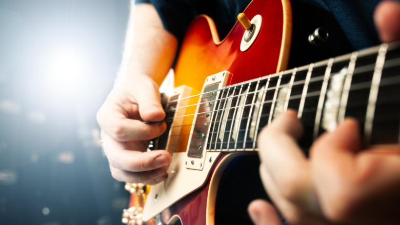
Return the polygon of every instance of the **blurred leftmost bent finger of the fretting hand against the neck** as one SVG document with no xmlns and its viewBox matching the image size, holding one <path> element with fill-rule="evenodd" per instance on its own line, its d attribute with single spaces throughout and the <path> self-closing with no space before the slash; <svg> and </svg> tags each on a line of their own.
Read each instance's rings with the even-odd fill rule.
<svg viewBox="0 0 400 225">
<path fill-rule="evenodd" d="M 274 180 L 290 180 L 307 167 L 306 157 L 296 142 L 301 134 L 301 122 L 291 110 L 276 118 L 260 133 L 259 155 Z"/>
</svg>

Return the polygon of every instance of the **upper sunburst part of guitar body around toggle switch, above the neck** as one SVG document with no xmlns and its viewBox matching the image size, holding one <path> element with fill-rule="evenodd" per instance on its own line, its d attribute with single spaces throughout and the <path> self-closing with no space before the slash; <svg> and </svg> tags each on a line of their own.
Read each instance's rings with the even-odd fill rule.
<svg viewBox="0 0 400 225">
<path fill-rule="evenodd" d="M 182 85 L 199 94 L 207 76 L 227 70 L 231 73 L 227 85 L 237 84 L 265 74 L 285 70 L 288 64 L 292 16 L 288 0 L 253 1 L 244 11 L 251 19 L 263 16 L 263 25 L 253 46 L 242 52 L 240 43 L 245 29 L 236 23 L 223 40 L 219 40 L 212 19 L 206 15 L 197 17 L 189 26 L 181 52 L 174 68 L 175 87 Z M 195 105 L 198 98 L 191 98 Z M 193 114 L 195 107 L 187 109 Z M 193 117 L 185 118 L 184 124 L 192 124 Z M 177 152 L 186 151 L 190 126 L 183 129 Z"/>
</svg>

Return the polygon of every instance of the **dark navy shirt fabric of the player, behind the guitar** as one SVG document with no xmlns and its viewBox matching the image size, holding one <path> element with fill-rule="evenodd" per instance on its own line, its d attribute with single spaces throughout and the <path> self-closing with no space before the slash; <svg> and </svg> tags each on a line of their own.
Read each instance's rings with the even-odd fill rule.
<svg viewBox="0 0 400 225">
<path fill-rule="evenodd" d="M 373 24 L 373 11 L 380 0 L 292 1 L 312 3 L 331 13 L 355 50 L 379 43 Z M 250 2 L 249 0 L 136 0 L 135 4 L 153 4 L 165 29 L 181 42 L 186 28 L 197 15 L 209 15 L 217 26 L 219 23 L 232 27 L 237 14 L 243 12 Z"/>
</svg>

